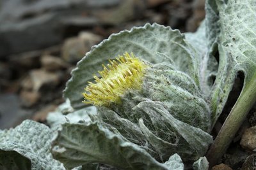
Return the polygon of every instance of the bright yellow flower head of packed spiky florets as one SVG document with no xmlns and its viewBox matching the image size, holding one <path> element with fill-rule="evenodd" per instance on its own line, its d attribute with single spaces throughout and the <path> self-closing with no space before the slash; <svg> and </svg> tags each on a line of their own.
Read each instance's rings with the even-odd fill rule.
<svg viewBox="0 0 256 170">
<path fill-rule="evenodd" d="M 147 65 L 134 57 L 133 53 L 124 53 L 115 60 L 109 60 L 108 66 L 99 71 L 101 78 L 94 76 L 95 83 L 88 82 L 84 89 L 83 103 L 97 106 L 109 106 L 111 103 L 120 103 L 121 96 L 127 90 L 140 90 L 143 73 Z"/>
</svg>

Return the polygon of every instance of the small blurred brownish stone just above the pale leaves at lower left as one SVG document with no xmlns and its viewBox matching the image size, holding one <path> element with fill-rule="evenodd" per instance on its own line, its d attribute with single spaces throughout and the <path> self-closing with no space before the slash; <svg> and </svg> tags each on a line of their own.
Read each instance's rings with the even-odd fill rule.
<svg viewBox="0 0 256 170">
<path fill-rule="evenodd" d="M 49 104 L 48 106 L 44 106 L 44 108 L 40 111 L 36 111 L 35 115 L 33 115 L 33 120 L 36 122 L 45 122 L 47 115 L 56 110 L 58 106 L 56 104 Z"/>
</svg>

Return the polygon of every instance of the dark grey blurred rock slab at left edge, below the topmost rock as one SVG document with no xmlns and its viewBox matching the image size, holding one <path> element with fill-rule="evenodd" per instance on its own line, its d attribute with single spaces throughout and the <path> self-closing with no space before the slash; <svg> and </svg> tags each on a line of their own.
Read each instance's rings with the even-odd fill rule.
<svg viewBox="0 0 256 170">
<path fill-rule="evenodd" d="M 63 27 L 60 27 L 58 22 L 60 18 L 57 15 L 59 14 L 45 13 L 28 20 L 2 23 L 0 25 L 0 58 L 12 53 L 39 50 L 60 43 Z M 59 30 L 56 31 L 56 29 Z"/>
</svg>

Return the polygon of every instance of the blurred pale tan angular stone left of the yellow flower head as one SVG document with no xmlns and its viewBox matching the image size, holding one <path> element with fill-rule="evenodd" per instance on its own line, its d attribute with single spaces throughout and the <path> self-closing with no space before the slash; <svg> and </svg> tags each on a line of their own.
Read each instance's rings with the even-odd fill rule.
<svg viewBox="0 0 256 170">
<path fill-rule="evenodd" d="M 29 72 L 29 78 L 33 84 L 33 91 L 38 92 L 42 87 L 53 89 L 60 83 L 60 75 L 45 71 L 44 69 L 33 69 Z"/>
</svg>

